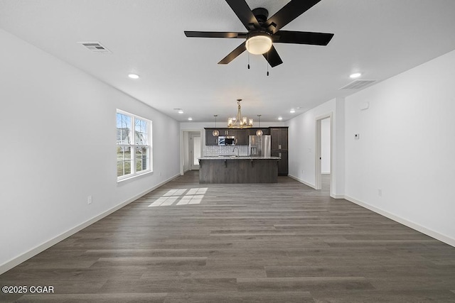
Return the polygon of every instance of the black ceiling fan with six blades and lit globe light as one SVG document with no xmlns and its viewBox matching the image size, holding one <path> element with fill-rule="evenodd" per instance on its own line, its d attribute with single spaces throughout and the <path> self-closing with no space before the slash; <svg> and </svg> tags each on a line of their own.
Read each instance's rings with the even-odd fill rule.
<svg viewBox="0 0 455 303">
<path fill-rule="evenodd" d="M 247 33 L 214 32 L 214 31 L 184 31 L 187 37 L 194 38 L 241 38 L 245 41 L 232 50 L 218 64 L 228 64 L 238 55 L 247 50 L 255 55 L 263 55 L 271 67 L 283 63 L 274 43 L 295 43 L 309 45 L 327 45 L 333 33 L 312 33 L 304 31 L 280 31 L 289 22 L 321 0 L 291 0 L 282 9 L 268 18 L 269 11 L 264 8 L 250 9 L 245 0 L 226 0 L 232 11 L 247 28 Z M 268 18 L 268 19 L 267 19 Z"/>
</svg>

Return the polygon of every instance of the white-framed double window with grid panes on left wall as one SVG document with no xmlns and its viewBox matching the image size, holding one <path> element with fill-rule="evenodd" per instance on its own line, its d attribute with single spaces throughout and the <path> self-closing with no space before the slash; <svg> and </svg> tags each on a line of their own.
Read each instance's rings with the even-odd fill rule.
<svg viewBox="0 0 455 303">
<path fill-rule="evenodd" d="M 151 171 L 151 121 L 117 110 L 117 180 Z"/>
</svg>

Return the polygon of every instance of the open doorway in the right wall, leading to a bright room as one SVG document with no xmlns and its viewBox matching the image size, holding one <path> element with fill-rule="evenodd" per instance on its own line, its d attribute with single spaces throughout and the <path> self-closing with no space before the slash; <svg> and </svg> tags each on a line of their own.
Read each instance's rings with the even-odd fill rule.
<svg viewBox="0 0 455 303">
<path fill-rule="evenodd" d="M 332 174 L 332 115 L 316 119 L 315 188 L 330 194 Z"/>
</svg>

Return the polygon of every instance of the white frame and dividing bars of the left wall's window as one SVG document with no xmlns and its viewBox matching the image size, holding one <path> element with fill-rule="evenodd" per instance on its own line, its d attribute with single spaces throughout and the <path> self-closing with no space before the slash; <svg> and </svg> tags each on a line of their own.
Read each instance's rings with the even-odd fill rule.
<svg viewBox="0 0 455 303">
<path fill-rule="evenodd" d="M 141 175 L 145 175 L 147 173 L 153 172 L 153 161 L 152 161 L 152 136 L 151 136 L 151 131 L 152 131 L 152 121 L 149 119 L 145 119 L 144 117 L 137 116 L 135 114 L 131 114 L 128 111 L 122 111 L 121 109 L 117 109 L 115 117 L 116 117 L 116 131 L 117 133 L 119 132 L 119 128 L 117 126 L 117 114 L 122 114 L 124 116 L 128 116 L 130 121 L 130 126 L 129 128 L 131 129 L 129 135 L 130 135 L 130 141 L 129 144 L 124 144 L 124 143 L 119 143 L 118 136 L 117 137 L 117 142 L 116 142 L 116 153 L 117 153 L 117 182 L 121 182 L 124 180 L 129 180 L 134 177 L 139 177 Z M 139 145 L 137 141 L 137 131 L 136 131 L 136 121 L 137 119 L 141 121 L 146 122 L 146 133 L 147 133 L 147 138 L 146 138 L 146 144 L 141 144 Z M 121 135 L 122 136 L 122 135 Z M 120 137 L 120 141 L 122 141 L 122 137 Z M 130 150 L 130 157 L 129 157 L 129 162 L 130 162 L 130 167 L 131 167 L 131 172 L 127 175 L 118 175 L 118 170 L 119 170 L 119 157 L 118 157 L 118 148 L 123 147 L 125 149 L 129 148 Z M 148 159 L 147 161 L 147 167 L 143 170 L 137 171 L 137 148 L 146 148 L 147 149 L 147 155 L 146 158 Z M 128 162 L 128 160 L 123 159 L 122 162 Z"/>
</svg>

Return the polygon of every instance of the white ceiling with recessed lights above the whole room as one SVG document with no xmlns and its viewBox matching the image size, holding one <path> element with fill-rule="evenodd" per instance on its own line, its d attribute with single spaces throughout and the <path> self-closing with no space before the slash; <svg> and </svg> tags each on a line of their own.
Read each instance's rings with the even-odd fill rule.
<svg viewBox="0 0 455 303">
<path fill-rule="evenodd" d="M 269 16 L 285 0 L 247 0 Z M 276 44 L 283 64 L 247 52 L 218 65 L 241 39 L 183 31 L 242 31 L 223 0 L 0 0 L 0 28 L 178 121 L 245 116 L 284 121 L 335 97 L 353 80 L 382 81 L 455 49 L 454 0 L 322 0 L 283 29 L 334 33 L 326 47 Z M 77 42 L 99 41 L 112 54 Z M 7 47 L 7 45 L 2 45 Z M 131 72 L 141 76 L 129 79 Z M 178 114 L 176 108 L 183 109 Z M 296 109 L 290 114 L 291 108 Z"/>
</svg>

